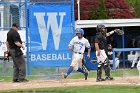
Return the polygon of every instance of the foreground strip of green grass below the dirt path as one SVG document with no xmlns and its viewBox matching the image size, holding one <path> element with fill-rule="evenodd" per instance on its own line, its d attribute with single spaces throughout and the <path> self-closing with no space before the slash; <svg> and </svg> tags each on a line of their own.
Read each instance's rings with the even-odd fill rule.
<svg viewBox="0 0 140 93">
<path fill-rule="evenodd" d="M 41 89 L 26 89 L 26 90 L 7 90 L 0 91 L 1 93 L 140 93 L 140 86 L 77 86 L 77 87 L 60 87 L 60 88 L 41 88 Z"/>
</svg>

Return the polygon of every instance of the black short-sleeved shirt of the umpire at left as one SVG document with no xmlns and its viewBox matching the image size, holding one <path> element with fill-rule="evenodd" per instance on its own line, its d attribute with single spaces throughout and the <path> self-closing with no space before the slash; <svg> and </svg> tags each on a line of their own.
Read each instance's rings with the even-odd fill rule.
<svg viewBox="0 0 140 93">
<path fill-rule="evenodd" d="M 15 44 L 15 42 L 20 42 L 22 44 L 19 33 L 12 28 L 7 33 L 7 41 L 10 49 L 20 48 Z"/>
</svg>

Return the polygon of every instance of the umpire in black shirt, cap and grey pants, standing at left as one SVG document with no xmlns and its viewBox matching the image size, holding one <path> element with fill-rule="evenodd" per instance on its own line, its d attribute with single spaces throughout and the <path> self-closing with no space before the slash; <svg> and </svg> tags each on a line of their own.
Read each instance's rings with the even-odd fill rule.
<svg viewBox="0 0 140 93">
<path fill-rule="evenodd" d="M 27 82 L 26 77 L 26 62 L 23 52 L 20 48 L 25 49 L 22 45 L 20 35 L 18 33 L 18 24 L 14 23 L 12 28 L 7 33 L 7 49 L 13 59 L 13 82 Z"/>
</svg>

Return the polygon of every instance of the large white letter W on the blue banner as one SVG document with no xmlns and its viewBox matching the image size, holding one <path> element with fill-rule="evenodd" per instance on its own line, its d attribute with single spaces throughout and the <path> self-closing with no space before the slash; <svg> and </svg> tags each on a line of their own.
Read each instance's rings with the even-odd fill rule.
<svg viewBox="0 0 140 93">
<path fill-rule="evenodd" d="M 63 18 L 66 14 L 65 12 L 59 12 L 59 13 L 51 12 L 51 13 L 47 13 L 46 15 L 48 16 L 47 27 L 44 20 L 45 12 L 34 13 L 34 16 L 36 16 L 36 20 L 38 23 L 38 30 L 40 33 L 43 50 L 46 50 L 47 48 L 48 34 L 50 28 L 52 29 L 55 49 L 58 50 Z M 59 26 L 58 26 L 57 16 L 60 16 Z"/>
</svg>

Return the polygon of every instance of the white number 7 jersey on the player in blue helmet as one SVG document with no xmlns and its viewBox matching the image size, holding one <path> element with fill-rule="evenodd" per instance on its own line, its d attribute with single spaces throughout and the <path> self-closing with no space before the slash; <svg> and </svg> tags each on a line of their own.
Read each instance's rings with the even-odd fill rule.
<svg viewBox="0 0 140 93">
<path fill-rule="evenodd" d="M 73 52 L 84 53 L 85 48 L 90 48 L 88 40 L 84 37 L 81 39 L 75 36 L 69 43 L 68 46 L 73 46 Z"/>
</svg>

